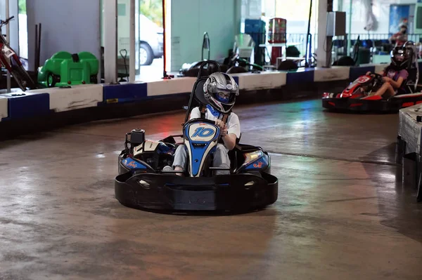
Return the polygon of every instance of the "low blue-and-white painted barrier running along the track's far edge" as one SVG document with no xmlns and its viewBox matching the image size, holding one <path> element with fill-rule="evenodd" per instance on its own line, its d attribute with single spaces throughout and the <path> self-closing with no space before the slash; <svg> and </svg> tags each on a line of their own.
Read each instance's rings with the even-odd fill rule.
<svg viewBox="0 0 422 280">
<path fill-rule="evenodd" d="M 362 65 L 362 67 L 373 67 L 379 72 L 387 65 Z M 354 67 L 355 68 L 355 67 Z M 241 91 L 267 90 L 271 88 L 281 88 L 286 84 L 300 84 L 302 82 L 329 82 L 350 80 L 350 67 L 333 66 L 331 68 L 316 67 L 307 69 L 307 71 L 263 71 L 261 73 L 241 73 L 233 74 L 238 80 Z M 373 70 L 371 70 L 373 71 Z M 290 79 L 291 78 L 291 79 Z M 302 81 L 303 80 L 303 81 Z M 124 83 L 121 85 L 110 86 L 106 92 L 106 86 L 103 84 L 75 85 L 71 88 L 41 88 L 34 91 L 27 91 L 19 98 L 28 98 L 25 100 L 13 100 L 13 106 L 7 100 L 8 96 L 17 98 L 16 95 L 3 95 L 0 99 L 0 116 L 11 119 L 20 116 L 32 116 L 44 114 L 46 111 L 55 112 L 71 111 L 87 107 L 96 107 L 98 103 L 104 102 L 107 98 L 127 102 L 128 100 L 141 100 L 143 97 L 165 96 L 178 93 L 191 93 L 196 77 L 182 77 L 174 79 L 159 79 L 147 83 Z M 111 90 L 113 89 L 113 90 Z M 33 98 L 31 95 L 48 93 Z M 26 96 L 26 97 L 25 97 Z M 31 100 L 32 98 L 32 100 Z M 33 102 L 38 102 L 37 107 L 32 106 Z"/>
</svg>

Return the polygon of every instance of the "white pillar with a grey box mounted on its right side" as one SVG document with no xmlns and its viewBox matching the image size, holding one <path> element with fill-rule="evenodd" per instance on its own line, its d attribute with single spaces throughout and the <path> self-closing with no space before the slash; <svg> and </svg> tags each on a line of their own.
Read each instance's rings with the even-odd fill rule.
<svg viewBox="0 0 422 280">
<path fill-rule="evenodd" d="M 331 5 L 330 5 L 331 4 Z M 332 37 L 326 36 L 327 11 L 333 11 L 333 0 L 318 1 L 318 50 L 316 56 L 318 67 L 331 66 L 331 41 Z"/>
</svg>

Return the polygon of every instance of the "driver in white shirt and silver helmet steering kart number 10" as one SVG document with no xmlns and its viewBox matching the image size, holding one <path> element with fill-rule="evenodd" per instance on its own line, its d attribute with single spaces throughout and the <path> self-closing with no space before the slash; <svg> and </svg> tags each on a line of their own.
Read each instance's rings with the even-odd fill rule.
<svg viewBox="0 0 422 280">
<path fill-rule="evenodd" d="M 202 110 L 194 107 L 190 119 L 205 118 L 215 121 L 219 126 L 221 139 L 214 153 L 212 166 L 230 167 L 229 150 L 234 149 L 236 140 L 241 137 L 239 118 L 231 109 L 239 95 L 238 84 L 233 77 L 226 73 L 212 73 L 204 84 L 204 96 L 208 105 Z M 165 166 L 163 170 L 183 171 L 186 166 L 187 153 L 184 145 L 179 145 L 174 154 L 172 166 Z M 216 171 L 216 175 L 230 174 L 230 171 Z M 182 175 L 182 173 L 177 173 Z"/>
</svg>

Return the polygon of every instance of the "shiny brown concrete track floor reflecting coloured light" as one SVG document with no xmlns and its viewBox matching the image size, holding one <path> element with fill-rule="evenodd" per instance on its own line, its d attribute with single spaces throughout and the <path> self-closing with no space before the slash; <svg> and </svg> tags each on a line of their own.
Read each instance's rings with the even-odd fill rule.
<svg viewBox="0 0 422 280">
<path fill-rule="evenodd" d="M 398 114 L 320 100 L 236 109 L 271 151 L 279 199 L 233 216 L 121 206 L 124 133 L 180 133 L 183 112 L 0 143 L 0 279 L 422 279 L 422 204 L 394 164 Z"/>
</svg>

